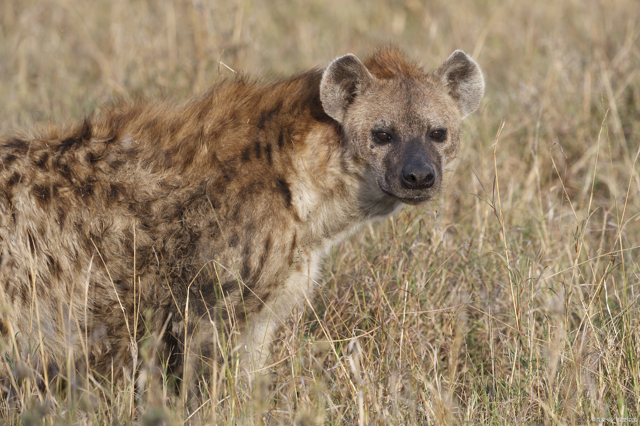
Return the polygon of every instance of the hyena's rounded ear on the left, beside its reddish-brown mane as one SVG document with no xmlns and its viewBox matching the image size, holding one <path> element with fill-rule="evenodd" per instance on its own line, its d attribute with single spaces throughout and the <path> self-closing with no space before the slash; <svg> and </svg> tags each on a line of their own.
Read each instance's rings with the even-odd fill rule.
<svg viewBox="0 0 640 426">
<path fill-rule="evenodd" d="M 335 59 L 324 70 L 320 82 L 320 100 L 324 112 L 342 123 L 349 103 L 369 86 L 371 80 L 367 67 L 354 55 Z"/>
</svg>

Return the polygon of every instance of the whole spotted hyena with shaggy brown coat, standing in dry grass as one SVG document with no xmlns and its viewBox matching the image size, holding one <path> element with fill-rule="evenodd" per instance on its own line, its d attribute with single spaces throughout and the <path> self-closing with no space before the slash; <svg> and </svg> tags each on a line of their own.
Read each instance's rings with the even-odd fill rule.
<svg viewBox="0 0 640 426">
<path fill-rule="evenodd" d="M 336 241 L 438 194 L 483 91 L 460 50 L 426 72 L 386 47 L 1 139 L 5 347 L 42 378 L 117 374 L 148 335 L 172 369 L 225 345 L 259 369 Z"/>
</svg>

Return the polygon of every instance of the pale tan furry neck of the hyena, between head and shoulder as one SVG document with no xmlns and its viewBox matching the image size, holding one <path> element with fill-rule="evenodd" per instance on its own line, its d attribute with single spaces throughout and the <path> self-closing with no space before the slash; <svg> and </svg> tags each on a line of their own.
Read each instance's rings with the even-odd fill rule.
<svg viewBox="0 0 640 426">
<path fill-rule="evenodd" d="M 380 191 L 369 166 L 347 144 L 340 126 L 317 121 L 304 142 L 292 147 L 291 193 L 299 232 L 321 252 L 402 206 Z"/>
</svg>

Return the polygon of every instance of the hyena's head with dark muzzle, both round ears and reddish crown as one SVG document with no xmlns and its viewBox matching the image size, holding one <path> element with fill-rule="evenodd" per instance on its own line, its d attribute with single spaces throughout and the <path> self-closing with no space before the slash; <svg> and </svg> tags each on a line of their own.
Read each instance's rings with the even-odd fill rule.
<svg viewBox="0 0 640 426">
<path fill-rule="evenodd" d="M 438 192 L 460 149 L 461 121 L 483 93 L 479 66 L 461 50 L 430 73 L 393 48 L 365 64 L 348 54 L 328 66 L 320 85 L 324 110 L 342 125 L 365 179 L 407 204 Z"/>
</svg>

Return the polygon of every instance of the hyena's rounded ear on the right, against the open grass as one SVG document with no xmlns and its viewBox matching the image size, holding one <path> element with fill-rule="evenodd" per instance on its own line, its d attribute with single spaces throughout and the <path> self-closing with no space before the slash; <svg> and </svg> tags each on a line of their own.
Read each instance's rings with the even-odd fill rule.
<svg viewBox="0 0 640 426">
<path fill-rule="evenodd" d="M 462 50 L 456 50 L 435 71 L 458 102 L 462 118 L 474 112 L 484 95 L 484 77 L 476 61 Z"/>
</svg>

